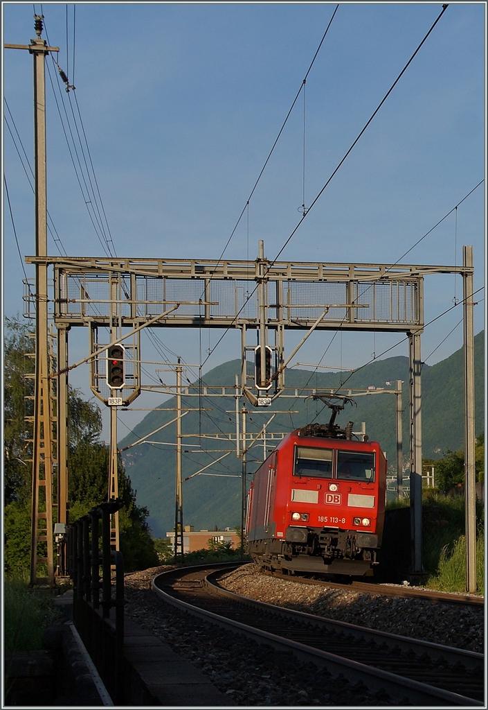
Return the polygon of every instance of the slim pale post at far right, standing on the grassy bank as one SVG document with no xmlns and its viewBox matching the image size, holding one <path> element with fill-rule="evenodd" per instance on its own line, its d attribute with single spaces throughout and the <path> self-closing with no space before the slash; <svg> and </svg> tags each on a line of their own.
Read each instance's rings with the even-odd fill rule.
<svg viewBox="0 0 488 710">
<path fill-rule="evenodd" d="M 472 246 L 462 247 L 463 266 L 473 266 Z M 473 274 L 462 279 L 465 355 L 465 527 L 466 589 L 476 591 L 476 469 L 475 469 L 475 335 Z"/>
</svg>

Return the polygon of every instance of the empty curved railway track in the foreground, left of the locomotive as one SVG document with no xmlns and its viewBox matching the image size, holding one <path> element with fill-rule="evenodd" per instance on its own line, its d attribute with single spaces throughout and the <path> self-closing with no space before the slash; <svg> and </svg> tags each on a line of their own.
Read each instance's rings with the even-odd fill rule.
<svg viewBox="0 0 488 710">
<path fill-rule="evenodd" d="M 384 691 L 392 704 L 483 706 L 481 654 L 331 621 L 239 596 L 218 577 L 230 564 L 172 569 L 153 579 L 162 599 L 244 633 L 257 643 L 291 650 L 333 676 Z"/>
</svg>

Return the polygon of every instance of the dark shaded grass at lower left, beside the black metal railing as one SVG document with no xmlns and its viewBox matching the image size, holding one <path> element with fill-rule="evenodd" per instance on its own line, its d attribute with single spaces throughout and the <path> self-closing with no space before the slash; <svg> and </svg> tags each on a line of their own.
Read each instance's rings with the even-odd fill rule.
<svg viewBox="0 0 488 710">
<path fill-rule="evenodd" d="M 48 592 L 32 591 L 26 582 L 6 579 L 4 583 L 4 652 L 42 648 L 46 626 L 60 614 Z"/>
</svg>

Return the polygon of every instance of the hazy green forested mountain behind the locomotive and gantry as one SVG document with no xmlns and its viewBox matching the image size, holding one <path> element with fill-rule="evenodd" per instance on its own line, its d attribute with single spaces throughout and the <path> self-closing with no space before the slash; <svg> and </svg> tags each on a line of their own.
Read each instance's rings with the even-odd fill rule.
<svg viewBox="0 0 488 710">
<path fill-rule="evenodd" d="M 476 433 L 484 428 L 484 332 L 475 337 L 475 391 L 476 391 Z M 235 373 L 240 373 L 240 360 L 233 360 L 216 367 L 202 378 L 208 386 L 233 385 Z M 312 373 L 305 370 L 290 370 L 286 373 L 287 388 L 313 387 L 317 389 L 337 388 L 347 378 L 348 388 L 385 388 L 392 389 L 397 379 L 403 383 L 403 440 L 404 457 L 409 453 L 409 361 L 404 356 L 377 360 L 355 373 Z M 457 449 L 463 444 L 463 356 L 462 349 L 448 359 L 422 369 L 423 395 L 423 457 L 438 459 L 447 449 Z M 392 393 L 377 393 L 357 397 L 357 408 L 346 405 L 340 413 L 338 422 L 345 425 L 348 420 L 355 422 L 354 430 L 359 431 L 361 422 L 366 423 L 366 432 L 370 439 L 376 439 L 387 453 L 391 464 L 396 461 L 395 397 Z M 241 405 L 243 400 L 241 400 Z M 174 398 L 165 401 L 161 408 L 174 408 Z M 183 398 L 182 407 L 199 406 L 199 398 Z M 215 434 L 216 432 L 235 433 L 235 408 L 233 398 L 202 398 L 201 408 L 211 411 L 201 413 L 193 411 L 182 420 L 183 434 Z M 293 413 L 278 414 L 268 427 L 269 431 L 289 432 L 312 420 L 326 422 L 330 416 L 321 402 L 299 398 L 280 397 L 271 408 L 256 410 L 249 403 L 247 408 L 248 431 L 258 432 L 270 418 L 273 410 L 293 410 Z M 231 410 L 231 412 L 226 411 Z M 322 411 L 321 411 L 322 410 Z M 174 418 L 171 411 L 153 411 L 134 429 L 120 447 L 126 447 L 140 437 L 148 435 L 157 427 Z M 174 442 L 174 425 L 149 437 L 155 442 Z M 191 476 L 211 461 L 221 457 L 231 449 L 232 444 L 223 440 L 205 439 L 206 448 L 211 453 L 200 451 L 196 446 L 200 440 L 195 437 L 184 439 L 183 478 Z M 202 445 L 203 449 L 203 445 Z M 148 523 L 156 537 L 165 536 L 167 530 L 174 527 L 174 445 L 138 444 L 124 452 L 123 460 L 137 491 L 138 505 L 150 510 Z M 257 461 L 262 460 L 262 448 L 254 447 L 250 451 L 248 478 L 257 468 Z M 183 483 L 184 524 L 212 530 L 227 526 L 240 525 L 241 501 L 241 464 L 231 453 L 221 462 L 210 466 L 203 474 Z M 221 474 L 220 477 L 208 474 Z"/>
</svg>

